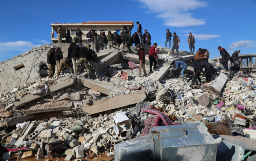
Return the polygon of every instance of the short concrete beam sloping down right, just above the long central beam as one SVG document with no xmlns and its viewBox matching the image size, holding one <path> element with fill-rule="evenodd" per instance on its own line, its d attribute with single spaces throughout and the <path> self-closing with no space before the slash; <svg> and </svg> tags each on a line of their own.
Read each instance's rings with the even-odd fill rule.
<svg viewBox="0 0 256 161">
<path fill-rule="evenodd" d="M 104 93 L 106 95 L 117 94 L 121 92 L 121 89 L 114 86 L 112 83 L 107 81 L 95 81 L 92 79 L 82 79 L 83 85 L 87 88 L 91 88 L 94 91 Z"/>
</svg>

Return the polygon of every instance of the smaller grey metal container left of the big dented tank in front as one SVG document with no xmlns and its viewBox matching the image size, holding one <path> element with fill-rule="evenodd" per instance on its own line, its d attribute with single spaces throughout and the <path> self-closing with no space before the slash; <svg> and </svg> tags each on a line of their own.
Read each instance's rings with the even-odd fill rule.
<svg viewBox="0 0 256 161">
<path fill-rule="evenodd" d="M 154 161 L 150 148 L 150 135 L 130 139 L 114 145 L 115 161 Z"/>
</svg>

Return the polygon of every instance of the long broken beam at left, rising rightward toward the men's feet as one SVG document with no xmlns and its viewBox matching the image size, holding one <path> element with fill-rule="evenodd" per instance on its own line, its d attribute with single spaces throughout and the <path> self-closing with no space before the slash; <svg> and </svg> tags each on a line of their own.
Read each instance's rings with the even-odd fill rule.
<svg viewBox="0 0 256 161">
<path fill-rule="evenodd" d="M 57 92 L 57 91 L 60 91 L 61 89 L 65 89 L 67 87 L 70 87 L 73 84 L 75 84 L 75 80 L 73 78 L 70 78 L 70 79 L 65 80 L 61 83 L 58 83 L 56 85 L 53 85 L 53 86 L 49 87 L 48 93 L 45 94 L 45 95 L 42 95 L 42 94 L 40 94 L 40 95 L 27 95 L 27 96 L 25 96 L 25 97 L 23 97 L 19 100 L 16 100 L 14 102 L 14 107 L 24 106 L 27 103 L 30 103 L 30 102 L 38 100 L 42 97 L 48 96 L 52 92 Z"/>
</svg>

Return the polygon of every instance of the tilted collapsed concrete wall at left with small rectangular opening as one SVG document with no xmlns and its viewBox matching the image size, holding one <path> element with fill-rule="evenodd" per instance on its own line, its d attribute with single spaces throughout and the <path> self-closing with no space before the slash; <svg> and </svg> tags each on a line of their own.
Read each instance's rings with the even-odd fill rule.
<svg viewBox="0 0 256 161">
<path fill-rule="evenodd" d="M 55 46 L 45 44 L 37 47 L 37 50 L 33 48 L 11 59 L 0 62 L 0 93 L 10 91 L 18 85 L 24 85 L 27 79 L 27 82 L 36 81 L 40 77 L 40 65 L 47 64 L 46 58 L 50 47 Z M 20 64 L 24 64 L 25 67 L 15 70 L 14 67 Z"/>
</svg>

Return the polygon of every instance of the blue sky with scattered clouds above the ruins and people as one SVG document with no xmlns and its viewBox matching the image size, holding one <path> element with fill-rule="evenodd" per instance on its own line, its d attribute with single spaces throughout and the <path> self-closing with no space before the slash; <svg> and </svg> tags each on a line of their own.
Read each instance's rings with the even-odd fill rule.
<svg viewBox="0 0 256 161">
<path fill-rule="evenodd" d="M 229 54 L 256 53 L 256 0 L 103 0 L 3 1 L 0 0 L 0 62 L 32 47 L 52 43 L 51 23 L 88 21 L 139 21 L 151 34 L 151 42 L 165 46 L 165 33 L 176 32 L 180 50 L 189 51 L 189 32 L 196 51 L 205 48 L 219 57 L 218 46 Z M 136 32 L 137 26 L 132 29 Z M 172 39 L 173 40 L 173 39 Z M 168 45 L 168 43 L 167 43 Z"/>
</svg>

